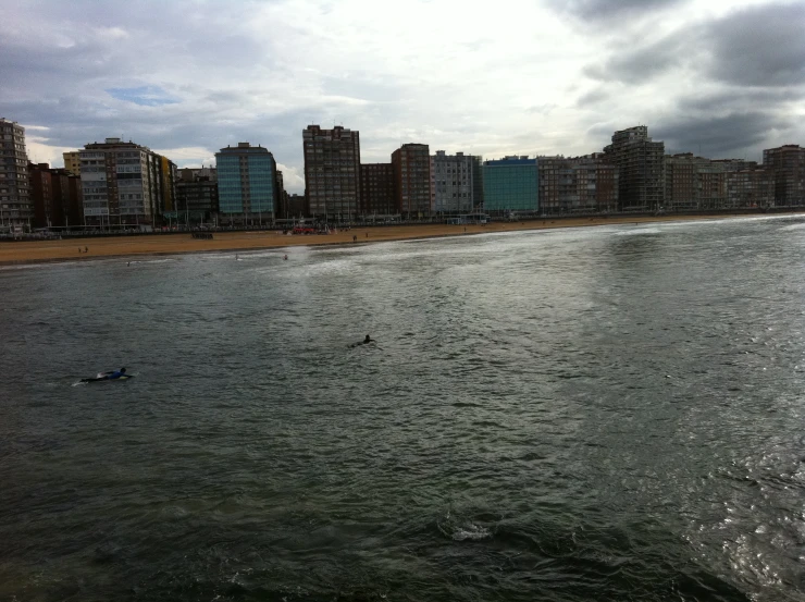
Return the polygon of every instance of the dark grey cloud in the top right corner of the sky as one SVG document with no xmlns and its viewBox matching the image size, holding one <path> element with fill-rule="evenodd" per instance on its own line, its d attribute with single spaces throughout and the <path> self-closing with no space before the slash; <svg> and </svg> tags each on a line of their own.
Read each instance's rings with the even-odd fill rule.
<svg viewBox="0 0 805 602">
<path fill-rule="evenodd" d="M 805 3 L 751 7 L 706 25 L 707 74 L 744 86 L 805 84 Z"/>
</svg>

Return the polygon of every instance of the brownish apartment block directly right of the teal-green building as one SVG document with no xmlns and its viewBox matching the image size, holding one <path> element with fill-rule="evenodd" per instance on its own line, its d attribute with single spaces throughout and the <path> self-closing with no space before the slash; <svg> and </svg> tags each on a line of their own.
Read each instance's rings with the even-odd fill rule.
<svg viewBox="0 0 805 602">
<path fill-rule="evenodd" d="M 618 168 L 603 153 L 537 157 L 540 212 L 567 216 L 614 211 L 618 207 Z"/>
</svg>

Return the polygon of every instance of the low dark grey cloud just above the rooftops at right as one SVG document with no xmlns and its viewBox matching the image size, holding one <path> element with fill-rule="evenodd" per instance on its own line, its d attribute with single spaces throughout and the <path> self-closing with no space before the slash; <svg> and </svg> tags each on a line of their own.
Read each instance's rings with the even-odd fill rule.
<svg viewBox="0 0 805 602">
<path fill-rule="evenodd" d="M 706 157 L 757 160 L 759 145 L 773 138 L 775 132 L 789 131 L 792 125 L 788 116 L 747 111 L 718 116 L 679 116 L 658 123 L 651 134 L 655 140 L 665 142 L 666 152 L 698 153 L 701 148 Z"/>
</svg>

